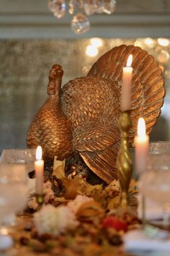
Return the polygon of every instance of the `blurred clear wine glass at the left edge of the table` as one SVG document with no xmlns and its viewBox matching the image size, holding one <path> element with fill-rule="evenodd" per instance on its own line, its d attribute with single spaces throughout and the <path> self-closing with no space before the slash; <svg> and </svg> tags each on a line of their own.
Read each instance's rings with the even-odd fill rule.
<svg viewBox="0 0 170 256">
<path fill-rule="evenodd" d="M 12 245 L 6 219 L 27 204 L 27 171 L 24 165 L 0 163 L 0 237 Z"/>
</svg>

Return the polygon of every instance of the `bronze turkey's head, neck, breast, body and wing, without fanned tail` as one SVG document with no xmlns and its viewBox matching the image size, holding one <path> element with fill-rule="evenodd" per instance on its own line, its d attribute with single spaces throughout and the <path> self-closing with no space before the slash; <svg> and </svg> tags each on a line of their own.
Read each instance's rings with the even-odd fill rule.
<svg viewBox="0 0 170 256">
<path fill-rule="evenodd" d="M 89 168 L 107 183 L 117 179 L 116 158 L 120 143 L 120 93 L 117 82 L 80 77 L 61 88 L 63 69 L 50 70 L 48 99 L 30 125 L 29 147 L 42 146 L 45 162 L 55 155 L 63 161 L 79 153 Z"/>
</svg>

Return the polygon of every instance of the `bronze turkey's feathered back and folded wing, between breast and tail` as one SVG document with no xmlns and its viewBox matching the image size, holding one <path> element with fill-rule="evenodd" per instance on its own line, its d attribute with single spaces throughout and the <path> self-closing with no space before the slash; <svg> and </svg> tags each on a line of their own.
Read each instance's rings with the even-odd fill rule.
<svg viewBox="0 0 170 256">
<path fill-rule="evenodd" d="M 73 126 L 73 146 L 84 162 L 105 182 L 117 177 L 117 127 L 120 93 L 117 82 L 98 77 L 80 77 L 62 88 L 63 112 Z M 112 153 L 106 154 L 106 150 Z"/>
</svg>

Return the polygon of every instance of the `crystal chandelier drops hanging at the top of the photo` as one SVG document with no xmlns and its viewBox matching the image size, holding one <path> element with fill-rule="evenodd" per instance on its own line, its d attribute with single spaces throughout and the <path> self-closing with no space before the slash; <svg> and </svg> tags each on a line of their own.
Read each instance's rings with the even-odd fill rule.
<svg viewBox="0 0 170 256">
<path fill-rule="evenodd" d="M 88 16 L 91 14 L 112 14 L 115 12 L 115 0 L 48 0 L 48 7 L 54 16 L 61 19 L 68 9 L 73 14 L 71 27 L 74 33 L 84 34 L 89 30 Z"/>
</svg>

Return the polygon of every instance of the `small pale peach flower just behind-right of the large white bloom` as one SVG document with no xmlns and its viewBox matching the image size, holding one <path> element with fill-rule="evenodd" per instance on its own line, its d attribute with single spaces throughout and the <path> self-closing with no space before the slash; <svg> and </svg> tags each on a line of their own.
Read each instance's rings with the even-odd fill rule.
<svg viewBox="0 0 170 256">
<path fill-rule="evenodd" d="M 86 197 L 86 195 L 77 195 L 73 201 L 68 202 L 68 207 L 72 210 L 73 213 L 76 213 L 84 202 L 90 201 L 94 201 L 94 199 L 92 197 Z"/>
</svg>

